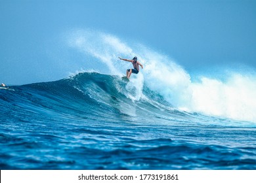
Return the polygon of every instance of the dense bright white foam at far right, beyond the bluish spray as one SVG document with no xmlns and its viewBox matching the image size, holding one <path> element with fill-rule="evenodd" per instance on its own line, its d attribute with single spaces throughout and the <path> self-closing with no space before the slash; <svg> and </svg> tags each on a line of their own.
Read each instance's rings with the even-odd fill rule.
<svg viewBox="0 0 256 183">
<path fill-rule="evenodd" d="M 190 108 L 216 116 L 256 122 L 256 77 L 232 74 L 221 80 L 192 83 Z"/>
</svg>

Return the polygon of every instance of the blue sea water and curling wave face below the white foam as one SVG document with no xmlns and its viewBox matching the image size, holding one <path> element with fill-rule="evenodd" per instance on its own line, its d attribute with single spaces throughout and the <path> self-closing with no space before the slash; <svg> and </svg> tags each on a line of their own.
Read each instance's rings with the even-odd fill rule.
<svg viewBox="0 0 256 183">
<path fill-rule="evenodd" d="M 255 123 L 177 110 L 137 77 L 0 90 L 1 169 L 256 169 Z"/>
</svg>

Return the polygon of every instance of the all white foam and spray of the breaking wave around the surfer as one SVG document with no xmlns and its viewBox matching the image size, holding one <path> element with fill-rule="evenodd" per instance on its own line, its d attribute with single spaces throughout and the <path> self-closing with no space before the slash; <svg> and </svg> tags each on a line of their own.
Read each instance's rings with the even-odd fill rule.
<svg viewBox="0 0 256 183">
<path fill-rule="evenodd" d="M 107 67 L 112 75 L 125 75 L 132 66 L 118 56 L 130 59 L 137 56 L 144 69 L 139 75 L 132 75 L 127 84 L 127 90 L 133 92 L 127 95 L 135 101 L 142 97 L 145 83 L 176 108 L 256 122 L 255 75 L 233 73 L 225 81 L 204 76 L 199 82 L 192 82 L 190 75 L 171 58 L 141 44 L 131 48 L 116 36 L 100 31 L 73 31 L 68 44 L 104 63 L 102 67 Z"/>
</svg>

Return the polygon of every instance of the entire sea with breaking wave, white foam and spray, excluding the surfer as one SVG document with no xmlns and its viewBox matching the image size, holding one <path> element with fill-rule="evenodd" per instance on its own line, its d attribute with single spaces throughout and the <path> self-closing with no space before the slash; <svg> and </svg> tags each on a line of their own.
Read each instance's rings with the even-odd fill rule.
<svg viewBox="0 0 256 183">
<path fill-rule="evenodd" d="M 1 169 L 256 168 L 254 71 L 194 76 L 108 33 L 62 39 L 84 54 L 81 71 L 0 90 Z M 123 82 L 118 56 L 144 69 Z"/>
</svg>

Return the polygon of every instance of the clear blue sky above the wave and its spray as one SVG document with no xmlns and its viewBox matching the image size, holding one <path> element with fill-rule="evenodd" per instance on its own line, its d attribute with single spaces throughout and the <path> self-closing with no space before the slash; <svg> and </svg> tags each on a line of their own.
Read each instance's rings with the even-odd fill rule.
<svg viewBox="0 0 256 183">
<path fill-rule="evenodd" d="M 76 28 L 139 42 L 186 71 L 256 69 L 256 1 L 0 0 L 0 24 L 0 82 L 7 84 L 67 76 L 56 60 L 79 58 L 64 52 L 58 38 Z"/>
</svg>

